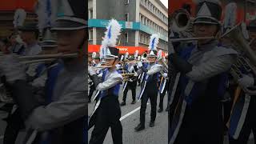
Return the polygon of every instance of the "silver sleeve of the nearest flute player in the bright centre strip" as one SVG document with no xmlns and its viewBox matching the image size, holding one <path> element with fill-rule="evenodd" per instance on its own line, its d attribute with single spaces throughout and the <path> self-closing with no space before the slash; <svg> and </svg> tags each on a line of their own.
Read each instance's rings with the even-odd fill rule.
<svg viewBox="0 0 256 144">
<path fill-rule="evenodd" d="M 122 75 L 112 74 L 110 78 L 106 79 L 106 81 L 99 83 L 96 90 L 108 90 L 120 82 L 122 82 Z"/>
</svg>

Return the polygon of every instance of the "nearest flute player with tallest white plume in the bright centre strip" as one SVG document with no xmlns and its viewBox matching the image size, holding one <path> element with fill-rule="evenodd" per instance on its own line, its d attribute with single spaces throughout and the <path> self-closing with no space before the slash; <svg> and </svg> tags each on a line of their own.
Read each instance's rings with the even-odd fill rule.
<svg viewBox="0 0 256 144">
<path fill-rule="evenodd" d="M 115 48 L 116 41 L 120 35 L 121 25 L 112 19 L 107 26 L 106 36 L 102 41 L 102 54 L 109 68 L 103 71 L 102 78 L 98 78 L 96 70 L 92 67 L 89 74 L 94 82 L 98 94 L 98 102 L 90 117 L 89 128 L 94 126 L 90 144 L 103 143 L 106 133 L 111 128 L 114 144 L 122 144 L 121 110 L 118 102 L 118 91 L 122 83 L 122 75 L 116 70 L 118 64 L 119 50 Z"/>
</svg>

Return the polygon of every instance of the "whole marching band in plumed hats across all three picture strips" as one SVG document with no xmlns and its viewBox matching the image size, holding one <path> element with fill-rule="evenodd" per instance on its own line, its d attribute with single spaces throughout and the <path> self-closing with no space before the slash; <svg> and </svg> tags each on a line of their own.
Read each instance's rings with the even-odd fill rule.
<svg viewBox="0 0 256 144">
<path fill-rule="evenodd" d="M 145 129 L 146 103 L 150 99 L 149 126 L 154 127 L 157 107 L 158 112 L 164 110 L 162 101 L 167 91 L 170 144 L 222 144 L 225 132 L 230 144 L 246 144 L 251 131 L 256 135 L 256 20 L 246 27 L 241 25 L 241 37 L 221 38 L 219 35 L 233 30 L 235 12 L 225 12 L 222 23 L 221 2 L 202 0 L 197 3 L 192 26 L 194 37 L 202 39 L 170 42 L 166 56 L 157 50 L 159 35 L 151 34 L 146 54 L 138 55 L 136 51 L 122 57 L 116 48 L 122 26 L 112 19 L 100 50 L 86 58 L 87 2 L 58 1 L 58 6 L 68 10 L 57 10 L 54 22 L 54 12 L 47 11 L 49 7 L 44 6 L 48 5 L 40 2 L 47 1 L 38 1 L 38 22 L 29 22 L 26 13 L 17 10 L 14 33 L 0 43 L 1 89 L 7 91 L 1 95 L 5 103 L 1 110 L 8 114 L 3 118 L 7 122 L 4 144 L 14 143 L 22 130 L 26 130 L 25 143 L 84 144 L 90 128 L 90 144 L 102 144 L 109 128 L 113 143 L 122 144 L 120 106 L 139 100 L 140 118 L 134 130 L 140 131 Z M 226 7 L 234 11 L 236 3 Z M 170 40 L 184 33 L 170 27 Z M 210 36 L 218 38 L 203 38 Z M 57 53 L 76 56 L 39 63 L 21 62 L 20 57 Z M 236 65 L 235 72 L 240 73 L 236 79 L 230 70 L 238 59 L 242 64 Z M 137 86 L 141 88 L 138 94 Z M 120 90 L 122 102 L 118 101 Z M 126 101 L 129 90 L 131 104 Z M 95 102 L 89 120 L 87 98 Z"/>
</svg>

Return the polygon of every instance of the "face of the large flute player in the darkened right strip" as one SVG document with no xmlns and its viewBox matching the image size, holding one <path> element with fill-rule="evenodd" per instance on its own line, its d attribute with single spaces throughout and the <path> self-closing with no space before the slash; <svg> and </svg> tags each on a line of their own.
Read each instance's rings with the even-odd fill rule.
<svg viewBox="0 0 256 144">
<path fill-rule="evenodd" d="M 212 37 L 217 34 L 218 26 L 206 23 L 194 24 L 194 34 L 195 37 Z M 209 39 L 198 40 L 198 43 L 209 42 Z"/>
</svg>

